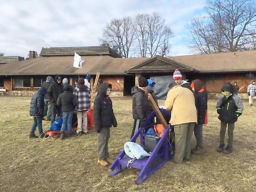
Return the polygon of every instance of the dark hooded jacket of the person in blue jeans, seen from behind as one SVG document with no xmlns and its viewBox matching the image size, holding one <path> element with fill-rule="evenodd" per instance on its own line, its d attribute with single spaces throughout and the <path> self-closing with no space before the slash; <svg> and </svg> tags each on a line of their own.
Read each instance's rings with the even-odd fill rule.
<svg viewBox="0 0 256 192">
<path fill-rule="evenodd" d="M 77 98 L 73 94 L 73 88 L 70 84 L 64 84 L 64 93 L 61 93 L 58 97 L 57 105 L 61 107 L 62 112 L 75 110 Z"/>
</svg>

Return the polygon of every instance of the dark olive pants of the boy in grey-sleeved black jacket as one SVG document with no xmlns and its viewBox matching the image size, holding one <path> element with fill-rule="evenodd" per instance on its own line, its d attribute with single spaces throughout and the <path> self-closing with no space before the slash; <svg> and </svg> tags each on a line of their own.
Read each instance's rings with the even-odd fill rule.
<svg viewBox="0 0 256 192">
<path fill-rule="evenodd" d="M 225 134 L 226 134 L 227 123 L 220 122 L 220 145 L 225 144 Z M 228 124 L 228 145 L 233 146 L 233 131 L 235 128 L 235 123 Z"/>
</svg>

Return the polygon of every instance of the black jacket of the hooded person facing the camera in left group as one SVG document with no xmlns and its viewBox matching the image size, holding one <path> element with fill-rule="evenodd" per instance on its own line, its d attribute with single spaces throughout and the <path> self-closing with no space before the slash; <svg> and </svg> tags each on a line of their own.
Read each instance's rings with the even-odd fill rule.
<svg viewBox="0 0 256 192">
<path fill-rule="evenodd" d="M 54 83 L 48 88 L 48 97 L 53 105 L 57 104 L 58 97 L 63 93 L 63 84 L 57 82 L 58 76 L 55 76 Z"/>
</svg>

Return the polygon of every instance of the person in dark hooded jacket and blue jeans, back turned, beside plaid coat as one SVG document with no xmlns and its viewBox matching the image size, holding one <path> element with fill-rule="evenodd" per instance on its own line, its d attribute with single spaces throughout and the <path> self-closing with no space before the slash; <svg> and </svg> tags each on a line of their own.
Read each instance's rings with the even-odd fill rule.
<svg viewBox="0 0 256 192">
<path fill-rule="evenodd" d="M 61 93 L 57 100 L 57 105 L 62 111 L 62 125 L 60 129 L 60 139 L 64 139 L 64 132 L 67 129 L 67 137 L 71 134 L 73 111 L 77 105 L 77 98 L 73 94 L 73 88 L 70 84 L 64 84 L 64 93 Z"/>
</svg>

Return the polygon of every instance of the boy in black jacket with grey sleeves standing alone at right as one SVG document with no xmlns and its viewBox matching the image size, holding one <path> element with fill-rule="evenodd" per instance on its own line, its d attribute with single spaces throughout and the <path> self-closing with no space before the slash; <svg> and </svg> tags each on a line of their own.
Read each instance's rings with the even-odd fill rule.
<svg viewBox="0 0 256 192">
<path fill-rule="evenodd" d="M 234 94 L 233 86 L 230 83 L 224 84 L 221 88 L 222 95 L 216 104 L 218 118 L 220 120 L 220 146 L 218 152 L 226 154 L 232 152 L 233 147 L 233 131 L 237 118 L 242 114 L 244 105 L 239 96 Z M 228 124 L 228 145 L 224 149 L 225 133 Z"/>
</svg>

